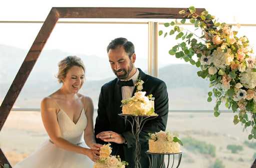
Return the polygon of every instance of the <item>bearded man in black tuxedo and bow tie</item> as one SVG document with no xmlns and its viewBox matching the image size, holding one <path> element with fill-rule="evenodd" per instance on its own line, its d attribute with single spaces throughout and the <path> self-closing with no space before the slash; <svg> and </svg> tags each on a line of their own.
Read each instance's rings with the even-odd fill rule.
<svg viewBox="0 0 256 168">
<path fill-rule="evenodd" d="M 110 66 L 117 78 L 101 87 L 97 118 L 94 132 L 96 142 L 111 143 L 112 155 L 119 155 L 121 160 L 129 163 L 128 168 L 134 168 L 135 139 L 131 134 L 131 126 L 120 116 L 121 100 L 130 98 L 136 91 L 135 83 L 138 79 L 144 83 L 142 91 L 146 95 L 152 94 L 154 110 L 158 117 L 146 121 L 139 134 L 141 146 L 141 168 L 148 168 L 149 162 L 145 151 L 148 150 L 147 133 L 155 133 L 166 128 L 168 117 L 168 95 L 166 85 L 160 79 L 146 75 L 139 68 L 134 67 L 136 55 L 134 45 L 126 38 L 115 38 L 107 46 Z M 156 159 L 159 167 L 160 158 Z"/>
</svg>

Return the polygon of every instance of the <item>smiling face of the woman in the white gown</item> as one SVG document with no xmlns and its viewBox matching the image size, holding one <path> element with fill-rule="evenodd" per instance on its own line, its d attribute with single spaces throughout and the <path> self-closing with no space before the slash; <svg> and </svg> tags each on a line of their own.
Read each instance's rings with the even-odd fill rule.
<svg viewBox="0 0 256 168">
<path fill-rule="evenodd" d="M 79 66 L 72 66 L 62 80 L 63 87 L 70 93 L 77 93 L 84 82 L 84 71 Z"/>
</svg>

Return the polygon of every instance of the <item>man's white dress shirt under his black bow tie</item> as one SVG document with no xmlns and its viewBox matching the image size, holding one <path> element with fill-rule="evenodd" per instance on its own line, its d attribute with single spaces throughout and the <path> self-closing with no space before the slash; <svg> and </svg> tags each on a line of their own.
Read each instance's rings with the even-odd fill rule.
<svg viewBox="0 0 256 168">
<path fill-rule="evenodd" d="M 122 91 L 122 100 L 124 99 L 128 99 L 132 96 L 133 90 L 135 88 L 135 84 L 137 82 L 138 79 L 138 74 L 139 71 L 138 69 L 136 69 L 136 72 L 134 73 L 133 76 L 131 76 L 128 80 L 132 79 L 133 85 L 134 86 L 122 86 L 121 87 L 121 91 Z"/>
</svg>

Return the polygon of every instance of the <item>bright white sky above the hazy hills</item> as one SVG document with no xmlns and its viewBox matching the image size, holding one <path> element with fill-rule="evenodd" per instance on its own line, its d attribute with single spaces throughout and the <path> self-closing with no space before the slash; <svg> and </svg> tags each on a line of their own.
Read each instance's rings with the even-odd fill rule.
<svg viewBox="0 0 256 168">
<path fill-rule="evenodd" d="M 253 0 L 1 0 L 0 21 L 44 21 L 51 7 L 189 7 L 191 5 L 205 8 L 222 22 L 256 24 L 256 18 L 253 18 Z M 74 19 L 68 20 L 73 21 Z M 98 20 L 100 19 L 89 19 L 89 21 Z M 111 21 L 111 19 L 108 20 Z M 129 19 L 117 20 L 130 21 Z M 161 22 L 162 20 L 155 21 Z M 28 51 L 40 27 L 41 24 L 38 23 L 0 23 L 0 44 Z M 163 28 L 162 25 L 159 26 L 159 29 L 161 28 Z M 241 32 L 251 39 L 252 45 L 256 44 L 255 28 L 241 28 Z M 111 39 L 119 36 L 124 36 L 134 43 L 137 55 L 147 56 L 146 24 L 57 24 L 44 50 L 59 49 L 72 54 L 105 57 L 106 45 Z M 168 55 L 169 48 L 175 43 L 174 38 L 162 39 L 159 37 L 158 50 L 159 58 L 161 57 L 159 66 L 169 63 L 184 63 L 182 60 Z"/>
</svg>

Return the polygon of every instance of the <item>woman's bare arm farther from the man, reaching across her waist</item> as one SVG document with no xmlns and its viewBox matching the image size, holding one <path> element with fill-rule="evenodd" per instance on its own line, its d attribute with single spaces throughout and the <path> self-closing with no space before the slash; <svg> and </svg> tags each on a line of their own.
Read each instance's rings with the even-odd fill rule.
<svg viewBox="0 0 256 168">
<path fill-rule="evenodd" d="M 57 122 L 56 107 L 51 98 L 47 97 L 41 101 L 41 117 L 49 138 L 58 148 L 86 155 L 92 161 L 98 159 L 97 156 L 93 155 L 93 152 L 90 149 L 73 145 L 61 137 L 60 128 Z"/>
</svg>

